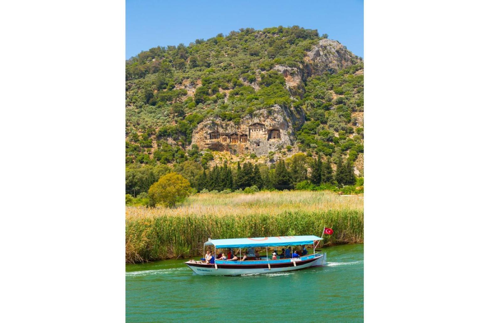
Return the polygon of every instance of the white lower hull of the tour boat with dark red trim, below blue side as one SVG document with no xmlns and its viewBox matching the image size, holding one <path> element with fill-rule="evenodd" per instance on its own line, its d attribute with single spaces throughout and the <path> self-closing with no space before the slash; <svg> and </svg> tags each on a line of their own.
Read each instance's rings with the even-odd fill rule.
<svg viewBox="0 0 483 323">
<path fill-rule="evenodd" d="M 250 275 L 250 274 L 270 274 L 270 273 L 276 273 L 276 272 L 284 272 L 284 271 L 292 271 L 292 270 L 298 270 L 298 269 L 303 269 L 307 267 L 317 267 L 317 266 L 325 266 L 327 264 L 326 259 L 327 259 L 327 253 L 323 253 L 320 255 L 317 255 L 315 257 L 315 260 L 306 263 L 306 264 L 301 264 L 298 265 L 300 261 L 303 261 L 302 259 L 296 259 L 295 260 L 295 265 L 294 266 L 294 259 L 290 260 L 290 266 L 286 267 L 272 267 L 268 266 L 270 262 L 262 262 L 260 265 L 264 265 L 262 268 L 243 268 L 244 265 L 240 265 L 240 268 L 222 268 L 223 265 L 217 265 L 215 268 L 213 265 L 209 266 L 194 266 L 193 264 L 190 265 L 189 262 L 186 262 L 186 266 L 190 267 L 191 270 L 193 270 L 196 274 L 198 275 L 210 275 L 210 276 L 234 276 L 234 275 Z M 213 266 L 213 267 L 212 267 Z"/>
</svg>

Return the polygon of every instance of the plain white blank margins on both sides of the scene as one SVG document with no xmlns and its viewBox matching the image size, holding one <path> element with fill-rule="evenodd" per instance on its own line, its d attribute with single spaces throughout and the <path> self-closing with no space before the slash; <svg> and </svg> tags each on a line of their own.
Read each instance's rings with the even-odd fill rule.
<svg viewBox="0 0 483 323">
<path fill-rule="evenodd" d="M 368 322 L 481 318 L 481 9 L 366 1 Z M 125 320 L 124 10 L 2 3 L 4 322 Z"/>
</svg>

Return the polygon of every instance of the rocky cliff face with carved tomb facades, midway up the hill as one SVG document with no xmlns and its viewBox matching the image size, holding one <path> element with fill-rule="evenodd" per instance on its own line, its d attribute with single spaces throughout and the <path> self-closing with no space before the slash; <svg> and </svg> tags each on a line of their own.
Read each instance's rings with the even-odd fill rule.
<svg viewBox="0 0 483 323">
<path fill-rule="evenodd" d="M 244 117 L 239 125 L 220 118 L 202 122 L 193 132 L 192 144 L 200 149 L 231 154 L 266 155 L 295 144 L 295 133 L 305 122 L 301 109 L 275 105 Z"/>
</svg>

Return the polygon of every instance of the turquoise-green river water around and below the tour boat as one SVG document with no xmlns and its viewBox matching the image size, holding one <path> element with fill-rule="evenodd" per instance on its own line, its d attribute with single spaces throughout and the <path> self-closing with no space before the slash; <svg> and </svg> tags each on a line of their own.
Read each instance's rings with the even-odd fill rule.
<svg viewBox="0 0 483 323">
<path fill-rule="evenodd" d="M 126 265 L 126 322 L 362 322 L 364 245 L 324 248 L 327 267 L 199 276 L 165 260 Z"/>
</svg>

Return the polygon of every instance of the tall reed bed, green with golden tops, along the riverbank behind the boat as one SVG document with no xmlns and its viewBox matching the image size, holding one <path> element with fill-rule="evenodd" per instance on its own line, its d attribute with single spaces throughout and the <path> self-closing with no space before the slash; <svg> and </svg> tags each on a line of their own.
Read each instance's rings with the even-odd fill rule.
<svg viewBox="0 0 483 323">
<path fill-rule="evenodd" d="M 322 234 L 324 244 L 364 241 L 363 198 L 332 192 L 197 194 L 176 209 L 126 208 L 126 262 L 200 255 L 208 238 Z"/>
</svg>

